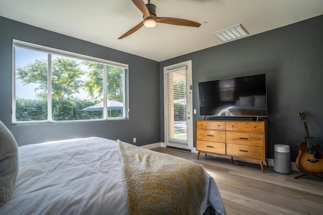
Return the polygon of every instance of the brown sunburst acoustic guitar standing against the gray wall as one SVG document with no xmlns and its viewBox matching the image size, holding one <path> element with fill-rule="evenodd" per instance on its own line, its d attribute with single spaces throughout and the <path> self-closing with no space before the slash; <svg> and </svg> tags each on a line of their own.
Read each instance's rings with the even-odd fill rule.
<svg viewBox="0 0 323 215">
<path fill-rule="evenodd" d="M 312 146 L 309 136 L 305 113 L 298 114 L 300 120 L 303 121 L 306 142 L 301 142 L 297 145 L 298 155 L 296 158 L 296 167 L 299 171 L 307 174 L 323 174 L 323 155 L 321 147 Z"/>
</svg>

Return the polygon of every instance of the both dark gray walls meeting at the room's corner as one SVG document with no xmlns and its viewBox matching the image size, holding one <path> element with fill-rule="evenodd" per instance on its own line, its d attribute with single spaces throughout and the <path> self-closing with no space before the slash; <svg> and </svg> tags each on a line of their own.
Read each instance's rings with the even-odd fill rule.
<svg viewBox="0 0 323 215">
<path fill-rule="evenodd" d="M 13 132 L 20 146 L 87 136 L 121 138 L 128 142 L 137 137 L 137 146 L 164 141 L 163 68 L 191 59 L 193 108 L 197 109 L 194 121 L 202 119 L 198 82 L 265 73 L 271 158 L 275 144 L 286 144 L 291 146 L 295 161 L 296 145 L 304 140 L 299 112 L 306 113 L 310 135 L 315 137 L 312 144 L 323 142 L 323 29 L 319 27 L 322 23 L 323 16 L 319 16 L 158 63 L 0 17 L 0 120 Z M 12 125 L 13 38 L 128 64 L 129 119 Z"/>
</svg>

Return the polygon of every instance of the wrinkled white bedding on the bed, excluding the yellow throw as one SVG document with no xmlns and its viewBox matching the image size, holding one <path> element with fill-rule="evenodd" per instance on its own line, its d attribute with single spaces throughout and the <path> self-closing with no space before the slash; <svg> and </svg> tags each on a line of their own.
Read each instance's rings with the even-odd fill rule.
<svg viewBox="0 0 323 215">
<path fill-rule="evenodd" d="M 210 203 L 225 214 L 216 183 L 205 176 L 201 213 Z M 117 142 L 91 137 L 19 147 L 15 190 L 0 214 L 128 214 Z"/>
</svg>

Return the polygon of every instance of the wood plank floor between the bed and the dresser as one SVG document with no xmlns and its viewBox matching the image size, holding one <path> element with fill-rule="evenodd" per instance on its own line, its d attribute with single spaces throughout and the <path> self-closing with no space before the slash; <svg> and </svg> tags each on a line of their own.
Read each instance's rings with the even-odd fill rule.
<svg viewBox="0 0 323 215">
<path fill-rule="evenodd" d="M 172 148 L 153 151 L 184 158 L 198 164 L 214 178 L 226 212 L 230 214 L 323 214 L 323 179 L 293 171 L 280 174 L 273 167 L 230 159 L 200 155 Z M 228 157 L 230 158 L 230 157 Z"/>
</svg>

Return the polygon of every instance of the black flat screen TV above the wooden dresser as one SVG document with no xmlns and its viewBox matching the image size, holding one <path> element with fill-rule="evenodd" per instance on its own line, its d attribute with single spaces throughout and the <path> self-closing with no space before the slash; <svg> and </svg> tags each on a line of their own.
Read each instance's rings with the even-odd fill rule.
<svg viewBox="0 0 323 215">
<path fill-rule="evenodd" d="M 266 117 L 265 74 L 198 83 L 200 115 Z"/>
</svg>

